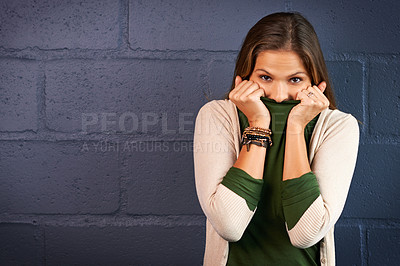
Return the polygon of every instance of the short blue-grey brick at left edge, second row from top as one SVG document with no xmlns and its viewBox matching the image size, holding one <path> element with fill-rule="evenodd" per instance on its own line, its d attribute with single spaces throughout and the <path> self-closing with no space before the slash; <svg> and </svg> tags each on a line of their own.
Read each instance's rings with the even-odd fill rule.
<svg viewBox="0 0 400 266">
<path fill-rule="evenodd" d="M 0 131 L 36 131 L 38 63 L 0 59 L 0 69 Z"/>
</svg>

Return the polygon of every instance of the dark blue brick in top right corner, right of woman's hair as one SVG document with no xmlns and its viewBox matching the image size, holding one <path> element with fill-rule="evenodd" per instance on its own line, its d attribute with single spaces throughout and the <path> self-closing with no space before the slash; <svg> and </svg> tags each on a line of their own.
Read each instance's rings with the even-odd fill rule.
<svg viewBox="0 0 400 266">
<path fill-rule="evenodd" d="M 400 51 L 397 45 L 400 41 L 398 1 L 302 0 L 293 1 L 292 10 L 301 12 L 309 19 L 324 50 L 363 53 Z"/>
</svg>

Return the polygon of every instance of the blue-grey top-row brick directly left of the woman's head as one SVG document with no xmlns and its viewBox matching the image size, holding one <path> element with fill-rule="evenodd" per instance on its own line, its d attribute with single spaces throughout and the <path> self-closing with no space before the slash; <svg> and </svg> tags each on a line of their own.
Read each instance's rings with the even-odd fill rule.
<svg viewBox="0 0 400 266">
<path fill-rule="evenodd" d="M 251 7 L 251 8 L 249 8 Z M 279 1 L 129 1 L 129 42 L 147 50 L 237 50 Z"/>
</svg>

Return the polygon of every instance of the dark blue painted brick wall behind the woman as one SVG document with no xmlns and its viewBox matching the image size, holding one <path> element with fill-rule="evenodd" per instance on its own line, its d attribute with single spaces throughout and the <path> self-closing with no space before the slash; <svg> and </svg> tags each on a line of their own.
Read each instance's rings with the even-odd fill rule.
<svg viewBox="0 0 400 266">
<path fill-rule="evenodd" d="M 277 11 L 311 21 L 362 123 L 338 265 L 398 264 L 399 3 L 1 0 L 0 264 L 200 265 L 193 121 Z"/>
</svg>

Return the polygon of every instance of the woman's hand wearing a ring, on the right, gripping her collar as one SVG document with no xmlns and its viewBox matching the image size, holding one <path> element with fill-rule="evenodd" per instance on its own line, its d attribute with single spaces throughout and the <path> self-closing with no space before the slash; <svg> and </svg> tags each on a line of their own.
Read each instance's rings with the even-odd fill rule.
<svg viewBox="0 0 400 266">
<path fill-rule="evenodd" d="M 288 128 L 304 130 L 305 126 L 322 110 L 329 107 L 329 100 L 323 94 L 326 82 L 322 81 L 318 87 L 308 86 L 297 93 L 296 100 L 301 102 L 293 107 L 288 117 Z"/>
</svg>

